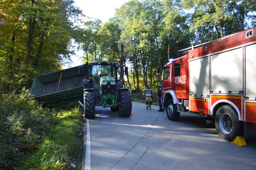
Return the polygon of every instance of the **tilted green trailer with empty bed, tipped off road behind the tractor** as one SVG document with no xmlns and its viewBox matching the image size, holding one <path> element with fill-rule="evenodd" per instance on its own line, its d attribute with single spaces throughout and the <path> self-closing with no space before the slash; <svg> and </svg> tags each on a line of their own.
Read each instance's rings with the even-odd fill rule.
<svg viewBox="0 0 256 170">
<path fill-rule="evenodd" d="M 42 102 L 44 106 L 83 101 L 83 80 L 86 80 L 86 74 L 85 70 L 83 74 L 80 74 L 79 67 L 36 76 L 30 93 L 34 94 L 34 98 Z"/>
</svg>

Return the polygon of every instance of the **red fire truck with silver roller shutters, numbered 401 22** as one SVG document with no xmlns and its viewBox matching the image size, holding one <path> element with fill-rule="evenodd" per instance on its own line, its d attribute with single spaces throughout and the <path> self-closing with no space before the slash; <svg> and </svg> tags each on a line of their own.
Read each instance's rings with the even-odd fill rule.
<svg viewBox="0 0 256 170">
<path fill-rule="evenodd" d="M 178 53 L 185 55 L 157 68 L 169 120 L 180 112 L 215 118 L 229 142 L 256 124 L 256 27 Z"/>
</svg>

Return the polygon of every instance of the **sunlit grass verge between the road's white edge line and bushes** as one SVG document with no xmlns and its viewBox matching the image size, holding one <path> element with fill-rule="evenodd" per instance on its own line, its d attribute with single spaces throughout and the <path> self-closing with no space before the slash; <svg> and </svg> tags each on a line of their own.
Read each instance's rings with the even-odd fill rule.
<svg viewBox="0 0 256 170">
<path fill-rule="evenodd" d="M 38 150 L 26 156 L 23 169 L 81 169 L 84 119 L 79 105 L 68 104 L 58 115 L 59 123 L 52 128 Z M 76 167 L 72 167 L 74 164 Z"/>
</svg>

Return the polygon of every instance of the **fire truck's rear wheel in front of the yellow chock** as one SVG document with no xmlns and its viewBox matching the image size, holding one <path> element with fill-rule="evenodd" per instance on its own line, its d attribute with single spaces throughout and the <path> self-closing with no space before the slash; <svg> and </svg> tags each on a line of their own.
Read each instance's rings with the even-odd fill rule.
<svg viewBox="0 0 256 170">
<path fill-rule="evenodd" d="M 225 141 L 232 142 L 243 135 L 243 123 L 238 120 L 235 109 L 230 105 L 221 106 L 215 116 L 215 128 Z"/>
</svg>

